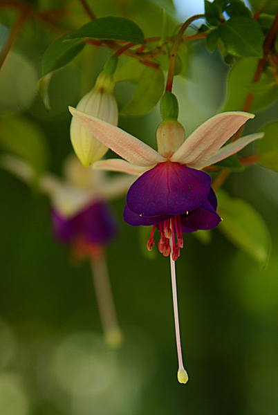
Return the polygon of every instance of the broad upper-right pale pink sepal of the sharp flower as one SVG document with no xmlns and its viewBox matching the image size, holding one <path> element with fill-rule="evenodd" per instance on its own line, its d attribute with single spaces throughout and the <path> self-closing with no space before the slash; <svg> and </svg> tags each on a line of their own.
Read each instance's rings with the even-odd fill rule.
<svg viewBox="0 0 278 415">
<path fill-rule="evenodd" d="M 217 114 L 205 121 L 185 140 L 171 157 L 171 161 L 193 167 L 204 164 L 253 114 L 230 111 Z"/>
</svg>

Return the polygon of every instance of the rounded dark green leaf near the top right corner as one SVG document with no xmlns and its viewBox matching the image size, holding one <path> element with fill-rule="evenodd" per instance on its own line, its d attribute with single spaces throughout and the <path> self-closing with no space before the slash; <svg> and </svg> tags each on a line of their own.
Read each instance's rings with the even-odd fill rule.
<svg viewBox="0 0 278 415">
<path fill-rule="evenodd" d="M 231 17 L 219 26 L 221 40 L 232 55 L 263 57 L 263 32 L 254 19 Z"/>
</svg>

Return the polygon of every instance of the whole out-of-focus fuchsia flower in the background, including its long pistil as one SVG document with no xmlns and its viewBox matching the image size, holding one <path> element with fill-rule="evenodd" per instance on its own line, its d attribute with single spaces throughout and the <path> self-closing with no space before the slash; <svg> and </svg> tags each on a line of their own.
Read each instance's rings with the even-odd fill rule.
<svg viewBox="0 0 278 415">
<path fill-rule="evenodd" d="M 1 165 L 27 184 L 33 183 L 35 172 L 24 160 L 6 155 Z M 133 176 L 111 178 L 105 172 L 86 169 L 71 156 L 64 163 L 64 178 L 46 173 L 38 183 L 39 190 L 50 198 L 55 237 L 70 246 L 71 259 L 91 262 L 104 338 L 112 347 L 120 345 L 123 336 L 105 259 L 106 245 L 118 230 L 108 201 L 124 195 L 132 181 Z"/>
</svg>

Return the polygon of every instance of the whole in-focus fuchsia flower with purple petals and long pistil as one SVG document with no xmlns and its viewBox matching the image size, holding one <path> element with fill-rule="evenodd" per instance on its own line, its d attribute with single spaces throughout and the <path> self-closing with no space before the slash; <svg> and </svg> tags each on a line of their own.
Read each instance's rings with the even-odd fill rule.
<svg viewBox="0 0 278 415">
<path fill-rule="evenodd" d="M 168 97 L 172 100 L 174 95 L 168 93 Z M 174 261 L 183 247 L 183 232 L 212 229 L 221 221 L 216 213 L 217 200 L 210 175 L 201 169 L 236 153 L 263 134 L 245 136 L 222 147 L 247 120 L 254 117 L 250 113 L 235 111 L 210 118 L 185 140 L 185 131 L 177 121 L 178 110 L 172 116 L 170 109 L 158 127 L 158 151 L 155 151 L 118 127 L 77 109 L 70 108 L 70 111 L 91 134 L 125 159 L 98 160 L 93 167 L 140 175 L 127 193 L 124 220 L 135 226 L 153 225 L 147 242 L 149 250 L 154 246 L 154 231 L 158 228 L 158 248 L 163 255 L 170 255 L 178 380 L 185 383 L 188 376 L 180 346 Z"/>
</svg>

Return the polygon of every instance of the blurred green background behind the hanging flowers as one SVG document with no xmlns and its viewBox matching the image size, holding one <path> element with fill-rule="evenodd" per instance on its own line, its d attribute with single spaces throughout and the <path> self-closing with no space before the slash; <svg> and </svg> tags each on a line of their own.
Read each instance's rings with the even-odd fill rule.
<svg viewBox="0 0 278 415">
<path fill-rule="evenodd" d="M 35 33 L 41 42 L 39 28 Z M 39 125 L 49 169 L 60 174 L 72 151 L 67 106 L 80 99 L 80 62 L 55 73 L 46 113 L 35 91 L 44 49 L 28 33 L 21 38 L 1 73 L 0 109 Z M 174 82 L 187 134 L 221 107 L 227 74 L 217 52 L 194 48 L 190 76 Z M 129 93 L 116 87 L 120 104 Z M 275 103 L 258 113 L 246 133 L 275 118 L 277 109 Z M 120 127 L 155 147 L 159 122 L 156 107 L 147 116 L 120 119 Z M 68 247 L 53 239 L 48 199 L 6 171 L 0 170 L 0 182 L 1 415 L 277 414 L 277 174 L 254 166 L 225 183 L 270 229 L 266 269 L 219 229 L 210 243 L 185 236 L 176 268 L 187 385 L 176 380 L 169 259 L 149 255 L 139 230 L 124 223 L 124 199 L 111 203 L 120 235 L 107 248 L 107 261 L 125 342 L 111 350 L 102 339 L 89 263 L 72 266 Z"/>
</svg>

